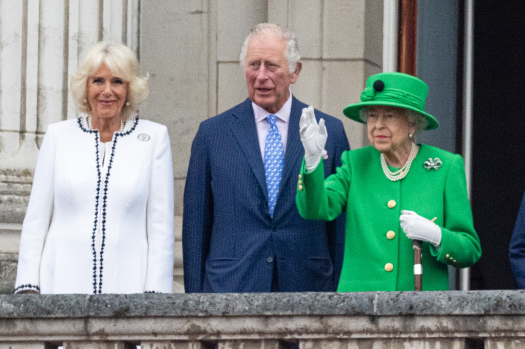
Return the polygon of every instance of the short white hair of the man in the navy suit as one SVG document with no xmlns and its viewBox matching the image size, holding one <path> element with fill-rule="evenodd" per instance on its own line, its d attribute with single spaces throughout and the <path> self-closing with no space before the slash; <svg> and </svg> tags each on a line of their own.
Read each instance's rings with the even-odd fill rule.
<svg viewBox="0 0 525 349">
<path fill-rule="evenodd" d="M 285 57 L 288 60 L 288 71 L 293 73 L 297 68 L 297 62 L 301 59 L 299 46 L 293 32 L 285 27 L 273 23 L 259 23 L 251 28 L 248 36 L 244 40 L 243 47 L 240 49 L 239 60 L 241 68 L 246 67 L 246 51 L 248 50 L 248 41 L 257 36 L 275 36 L 286 40 Z"/>
</svg>

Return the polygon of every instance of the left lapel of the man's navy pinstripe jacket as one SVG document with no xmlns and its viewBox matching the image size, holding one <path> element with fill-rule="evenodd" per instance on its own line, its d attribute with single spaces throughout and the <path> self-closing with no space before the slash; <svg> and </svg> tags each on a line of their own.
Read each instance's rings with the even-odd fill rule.
<svg viewBox="0 0 525 349">
<path fill-rule="evenodd" d="M 259 183 L 262 192 L 267 197 L 264 163 L 262 162 L 257 127 L 255 126 L 255 115 L 251 107 L 251 101 L 246 99 L 244 103 L 241 103 L 235 108 L 232 116 L 232 133 L 237 139 L 251 170 L 254 172 L 257 183 Z"/>
</svg>

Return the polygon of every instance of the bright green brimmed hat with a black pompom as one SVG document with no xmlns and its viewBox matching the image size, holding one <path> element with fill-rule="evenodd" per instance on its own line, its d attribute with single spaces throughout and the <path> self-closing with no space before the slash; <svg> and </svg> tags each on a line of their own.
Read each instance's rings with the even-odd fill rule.
<svg viewBox="0 0 525 349">
<path fill-rule="evenodd" d="M 372 75 L 366 80 L 366 88 L 361 93 L 361 102 L 344 108 L 344 115 L 354 121 L 365 123 L 359 117 L 361 108 L 367 105 L 388 105 L 407 108 L 427 119 L 426 129 L 437 128 L 434 116 L 425 113 L 425 100 L 428 94 L 427 84 L 412 75 L 398 72 L 386 72 Z"/>
</svg>

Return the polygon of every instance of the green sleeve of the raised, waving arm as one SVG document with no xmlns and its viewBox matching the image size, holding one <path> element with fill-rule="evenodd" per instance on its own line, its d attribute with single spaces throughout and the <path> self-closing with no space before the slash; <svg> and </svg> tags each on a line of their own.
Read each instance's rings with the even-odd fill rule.
<svg viewBox="0 0 525 349">
<path fill-rule="evenodd" d="M 350 165 L 348 151 L 341 157 L 342 166 L 324 179 L 322 160 L 312 172 L 306 173 L 304 160 L 297 185 L 296 204 L 299 214 L 307 220 L 332 221 L 337 218 L 348 200 Z"/>
</svg>

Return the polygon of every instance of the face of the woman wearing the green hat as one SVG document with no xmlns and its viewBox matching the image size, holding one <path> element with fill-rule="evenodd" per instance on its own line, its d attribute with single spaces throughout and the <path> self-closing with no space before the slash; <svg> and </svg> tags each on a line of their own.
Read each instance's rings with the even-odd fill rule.
<svg viewBox="0 0 525 349">
<path fill-rule="evenodd" d="M 408 122 L 403 108 L 370 106 L 367 115 L 367 135 L 375 149 L 396 154 L 411 143 L 408 136 L 415 132 L 416 126 Z"/>
</svg>

